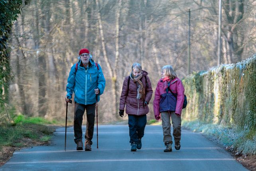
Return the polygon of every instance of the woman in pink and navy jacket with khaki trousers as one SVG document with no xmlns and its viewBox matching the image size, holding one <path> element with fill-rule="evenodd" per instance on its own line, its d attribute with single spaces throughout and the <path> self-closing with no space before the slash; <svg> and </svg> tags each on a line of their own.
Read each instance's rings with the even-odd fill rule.
<svg viewBox="0 0 256 171">
<path fill-rule="evenodd" d="M 175 149 L 179 150 L 181 147 L 181 110 L 184 101 L 184 87 L 170 65 L 163 66 L 161 77 L 156 86 L 154 114 L 157 120 L 162 119 L 163 142 L 166 146 L 164 152 L 171 152 L 171 122 Z"/>
</svg>

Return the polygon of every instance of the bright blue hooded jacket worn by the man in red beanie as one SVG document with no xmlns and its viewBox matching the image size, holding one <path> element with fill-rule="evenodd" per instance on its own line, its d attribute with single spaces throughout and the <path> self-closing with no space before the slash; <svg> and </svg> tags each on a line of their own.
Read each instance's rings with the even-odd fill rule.
<svg viewBox="0 0 256 171">
<path fill-rule="evenodd" d="M 100 91 L 98 95 L 102 95 L 106 81 L 99 64 L 97 68 L 95 62 L 90 59 L 89 66 L 87 70 L 85 70 L 81 63 L 81 60 L 79 60 L 77 72 L 76 64 L 71 67 L 69 78 L 67 79 L 67 98 L 71 99 L 74 92 L 74 100 L 76 103 L 91 105 L 96 103 L 96 94 L 94 89 L 98 88 Z M 98 101 L 100 101 L 99 96 Z"/>
</svg>

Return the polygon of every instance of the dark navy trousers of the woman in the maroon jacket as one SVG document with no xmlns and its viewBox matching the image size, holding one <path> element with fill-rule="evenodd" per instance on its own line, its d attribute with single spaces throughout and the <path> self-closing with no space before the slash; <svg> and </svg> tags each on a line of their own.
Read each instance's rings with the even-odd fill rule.
<svg viewBox="0 0 256 171">
<path fill-rule="evenodd" d="M 144 130 L 147 123 L 147 115 L 128 115 L 130 143 L 138 142 L 138 138 L 144 136 Z"/>
</svg>

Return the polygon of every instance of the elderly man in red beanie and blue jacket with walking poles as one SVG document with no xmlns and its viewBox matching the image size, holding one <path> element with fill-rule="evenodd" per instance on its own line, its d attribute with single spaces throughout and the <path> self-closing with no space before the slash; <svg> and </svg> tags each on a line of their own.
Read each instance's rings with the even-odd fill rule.
<svg viewBox="0 0 256 171">
<path fill-rule="evenodd" d="M 105 78 L 99 64 L 95 63 L 88 49 L 79 51 L 79 62 L 71 67 L 67 79 L 67 95 L 69 102 L 75 93 L 74 133 L 77 150 L 83 150 L 82 122 L 86 110 L 87 126 L 85 133 L 85 151 L 91 151 L 95 121 L 96 96 L 98 101 L 105 88 Z"/>
</svg>

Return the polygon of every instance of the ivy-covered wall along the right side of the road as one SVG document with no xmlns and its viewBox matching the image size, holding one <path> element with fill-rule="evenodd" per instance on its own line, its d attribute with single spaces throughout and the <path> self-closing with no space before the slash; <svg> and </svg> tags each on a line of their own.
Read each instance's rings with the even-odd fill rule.
<svg viewBox="0 0 256 171">
<path fill-rule="evenodd" d="M 183 120 L 256 129 L 256 54 L 183 80 L 188 105 Z"/>
</svg>

